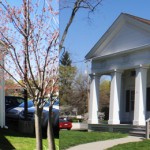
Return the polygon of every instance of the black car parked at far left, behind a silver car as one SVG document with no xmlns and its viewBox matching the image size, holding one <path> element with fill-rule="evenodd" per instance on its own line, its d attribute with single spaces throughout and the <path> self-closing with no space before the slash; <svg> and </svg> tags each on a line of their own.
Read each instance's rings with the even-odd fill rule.
<svg viewBox="0 0 150 150">
<path fill-rule="evenodd" d="M 19 106 L 24 102 L 24 98 L 18 96 L 5 96 L 5 109 L 6 112 L 14 107 Z"/>
</svg>

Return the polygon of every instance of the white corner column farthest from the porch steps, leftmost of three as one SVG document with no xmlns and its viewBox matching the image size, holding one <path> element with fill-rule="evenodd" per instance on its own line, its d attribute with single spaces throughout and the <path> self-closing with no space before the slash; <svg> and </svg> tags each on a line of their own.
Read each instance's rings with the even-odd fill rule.
<svg viewBox="0 0 150 150">
<path fill-rule="evenodd" d="M 98 124 L 98 104 L 99 104 L 99 76 L 91 76 L 90 99 L 89 99 L 89 124 Z"/>
</svg>

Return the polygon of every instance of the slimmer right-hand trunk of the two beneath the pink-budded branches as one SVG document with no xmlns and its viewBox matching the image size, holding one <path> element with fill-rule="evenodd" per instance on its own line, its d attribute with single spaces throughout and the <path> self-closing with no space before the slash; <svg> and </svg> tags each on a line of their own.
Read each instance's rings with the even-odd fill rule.
<svg viewBox="0 0 150 150">
<path fill-rule="evenodd" d="M 48 148 L 49 150 L 56 150 L 55 148 L 55 140 L 52 128 L 52 106 L 49 107 L 49 117 L 48 117 L 48 125 L 47 125 L 47 138 L 48 138 Z"/>
</svg>

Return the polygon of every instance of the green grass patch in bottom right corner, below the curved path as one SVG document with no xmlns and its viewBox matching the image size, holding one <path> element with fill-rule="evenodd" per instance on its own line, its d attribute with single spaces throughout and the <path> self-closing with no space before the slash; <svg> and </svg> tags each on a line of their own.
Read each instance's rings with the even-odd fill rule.
<svg viewBox="0 0 150 150">
<path fill-rule="evenodd" d="M 108 150 L 150 150 L 150 140 L 119 144 L 117 146 L 109 148 Z"/>
</svg>

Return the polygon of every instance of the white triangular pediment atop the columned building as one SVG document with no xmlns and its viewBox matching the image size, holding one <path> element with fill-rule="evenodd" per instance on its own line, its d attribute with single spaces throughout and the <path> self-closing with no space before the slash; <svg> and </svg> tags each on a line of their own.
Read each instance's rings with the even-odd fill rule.
<svg viewBox="0 0 150 150">
<path fill-rule="evenodd" d="M 120 15 L 110 29 L 87 54 L 86 59 L 108 56 L 150 44 L 149 24 Z"/>
</svg>

